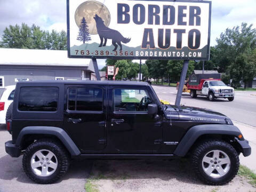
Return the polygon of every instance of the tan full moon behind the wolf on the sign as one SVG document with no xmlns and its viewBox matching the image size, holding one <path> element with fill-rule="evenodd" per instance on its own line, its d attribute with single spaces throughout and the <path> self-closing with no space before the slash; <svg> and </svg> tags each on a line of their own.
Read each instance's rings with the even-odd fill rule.
<svg viewBox="0 0 256 192">
<path fill-rule="evenodd" d="M 79 27 L 81 25 L 81 20 L 84 17 L 89 27 L 89 33 L 91 35 L 98 34 L 96 22 L 93 19 L 95 14 L 98 14 L 99 17 L 101 17 L 107 27 L 109 26 L 111 17 L 108 8 L 98 1 L 86 1 L 77 7 L 75 12 L 76 25 Z"/>
</svg>

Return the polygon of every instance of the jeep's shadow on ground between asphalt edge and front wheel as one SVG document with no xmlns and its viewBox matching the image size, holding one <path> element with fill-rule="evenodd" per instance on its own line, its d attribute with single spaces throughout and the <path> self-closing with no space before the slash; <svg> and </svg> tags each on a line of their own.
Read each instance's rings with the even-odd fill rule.
<svg viewBox="0 0 256 192">
<path fill-rule="evenodd" d="M 92 179 L 176 179 L 180 182 L 204 185 L 195 178 L 188 159 L 97 160 L 91 175 Z"/>
</svg>

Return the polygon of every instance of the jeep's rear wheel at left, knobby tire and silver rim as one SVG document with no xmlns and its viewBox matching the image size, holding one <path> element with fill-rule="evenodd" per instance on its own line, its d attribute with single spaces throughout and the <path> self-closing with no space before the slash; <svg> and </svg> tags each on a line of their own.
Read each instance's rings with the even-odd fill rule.
<svg viewBox="0 0 256 192">
<path fill-rule="evenodd" d="M 28 146 L 22 164 L 31 180 L 42 184 L 53 183 L 67 172 L 69 155 L 58 141 L 42 139 Z"/>
</svg>

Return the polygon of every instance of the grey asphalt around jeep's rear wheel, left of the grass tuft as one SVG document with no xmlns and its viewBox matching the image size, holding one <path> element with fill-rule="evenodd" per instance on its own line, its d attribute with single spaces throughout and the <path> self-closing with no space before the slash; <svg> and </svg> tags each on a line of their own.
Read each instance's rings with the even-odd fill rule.
<svg viewBox="0 0 256 192">
<path fill-rule="evenodd" d="M 86 178 L 89 177 L 93 161 L 71 162 L 68 174 L 52 185 L 38 185 L 31 181 L 22 168 L 22 156 L 12 158 L 6 154 L 4 143 L 11 140 L 5 126 L 0 124 L 0 192 L 71 192 L 84 191 Z"/>
</svg>

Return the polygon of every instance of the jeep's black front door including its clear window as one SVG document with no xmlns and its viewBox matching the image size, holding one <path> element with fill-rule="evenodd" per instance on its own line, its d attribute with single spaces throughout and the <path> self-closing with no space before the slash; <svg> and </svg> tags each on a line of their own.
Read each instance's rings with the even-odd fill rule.
<svg viewBox="0 0 256 192">
<path fill-rule="evenodd" d="M 162 143 L 162 116 L 148 114 L 156 103 L 146 86 L 110 86 L 108 133 L 114 153 L 157 153 Z"/>
</svg>

